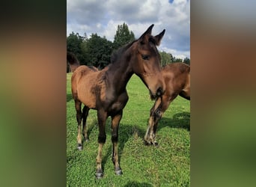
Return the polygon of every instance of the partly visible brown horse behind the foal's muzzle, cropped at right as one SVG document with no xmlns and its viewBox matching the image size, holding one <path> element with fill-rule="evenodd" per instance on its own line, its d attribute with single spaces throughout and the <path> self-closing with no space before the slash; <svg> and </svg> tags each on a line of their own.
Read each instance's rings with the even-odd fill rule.
<svg viewBox="0 0 256 187">
<path fill-rule="evenodd" d="M 145 144 L 158 145 L 156 129 L 162 114 L 171 102 L 178 96 L 190 100 L 190 67 L 183 63 L 173 63 L 162 67 L 162 76 L 165 79 L 165 93 L 156 99 L 150 109 L 147 132 L 144 136 Z"/>
</svg>

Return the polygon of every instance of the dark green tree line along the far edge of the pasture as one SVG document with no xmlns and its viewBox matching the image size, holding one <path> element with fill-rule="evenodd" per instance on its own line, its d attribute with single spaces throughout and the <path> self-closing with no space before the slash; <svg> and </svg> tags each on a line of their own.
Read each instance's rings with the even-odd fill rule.
<svg viewBox="0 0 256 187">
<path fill-rule="evenodd" d="M 78 33 L 72 32 L 67 37 L 67 51 L 73 52 L 78 58 L 80 64 L 94 66 L 98 69 L 103 69 L 110 63 L 112 52 L 124 46 L 127 43 L 135 40 L 135 35 L 129 31 L 128 25 L 123 23 L 118 25 L 118 30 L 115 33 L 114 42 L 109 41 L 106 37 L 100 37 L 97 33 L 91 34 L 88 38 L 86 33 L 80 36 Z M 159 52 L 161 55 L 161 65 L 172 62 L 184 62 L 190 64 L 190 59 L 175 58 L 171 53 Z M 70 72 L 70 67 L 67 64 L 67 73 Z"/>
</svg>

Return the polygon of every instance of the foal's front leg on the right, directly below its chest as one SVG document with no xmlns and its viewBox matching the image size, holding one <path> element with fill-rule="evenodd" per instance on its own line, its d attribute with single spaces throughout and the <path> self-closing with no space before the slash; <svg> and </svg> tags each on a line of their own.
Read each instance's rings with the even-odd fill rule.
<svg viewBox="0 0 256 187">
<path fill-rule="evenodd" d="M 122 114 L 123 114 L 123 111 L 121 111 L 119 114 L 115 116 L 112 116 L 112 144 L 113 144 L 112 162 L 115 166 L 115 174 L 117 175 L 123 174 L 118 162 L 118 126 L 122 118 Z"/>
</svg>

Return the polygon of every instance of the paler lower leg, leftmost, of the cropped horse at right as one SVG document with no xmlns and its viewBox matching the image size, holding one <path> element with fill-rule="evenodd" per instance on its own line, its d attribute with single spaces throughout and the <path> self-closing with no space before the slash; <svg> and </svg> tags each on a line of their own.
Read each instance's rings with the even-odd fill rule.
<svg viewBox="0 0 256 187">
<path fill-rule="evenodd" d="M 152 142 L 152 138 L 150 138 L 150 134 L 152 134 L 153 132 L 154 113 L 156 109 L 159 108 L 159 105 L 161 104 L 161 100 L 162 100 L 161 97 L 156 99 L 156 102 L 154 103 L 153 107 L 150 109 L 150 118 L 148 120 L 147 132 L 144 135 L 144 144 L 146 145 L 150 145 L 151 143 L 154 144 L 154 142 Z"/>
</svg>

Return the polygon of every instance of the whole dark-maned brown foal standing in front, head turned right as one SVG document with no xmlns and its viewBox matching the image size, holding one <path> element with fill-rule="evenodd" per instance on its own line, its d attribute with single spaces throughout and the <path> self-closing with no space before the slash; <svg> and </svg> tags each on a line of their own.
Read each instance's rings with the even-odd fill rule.
<svg viewBox="0 0 256 187">
<path fill-rule="evenodd" d="M 115 174 L 123 174 L 118 163 L 118 126 L 124 106 L 128 101 L 126 86 L 132 74 L 135 73 L 141 78 L 153 98 L 161 96 L 165 90 L 161 74 L 160 55 L 156 49 L 165 34 L 165 29 L 160 34 L 152 36 L 152 28 L 153 25 L 150 25 L 138 40 L 118 49 L 112 55 L 111 64 L 103 70 L 79 66 L 76 58 L 67 53 L 67 61 L 74 70 L 71 87 L 76 106 L 79 150 L 82 150 L 82 134 L 85 141 L 88 140 L 86 130 L 88 111 L 90 108 L 97 110 L 99 123 L 97 179 L 103 177 L 102 149 L 106 142 L 105 125 L 109 116 L 112 117 L 112 162 L 115 166 Z M 81 111 L 82 103 L 85 106 Z M 83 123 L 83 131 L 81 122 Z"/>
</svg>

